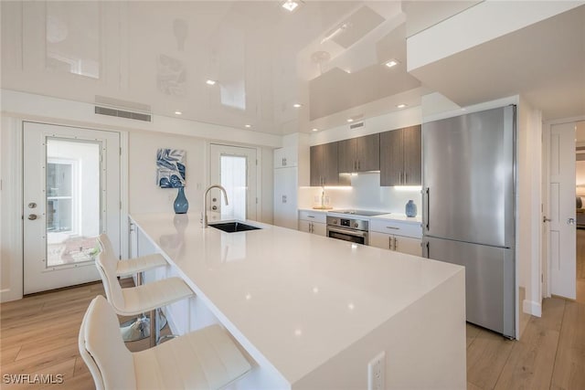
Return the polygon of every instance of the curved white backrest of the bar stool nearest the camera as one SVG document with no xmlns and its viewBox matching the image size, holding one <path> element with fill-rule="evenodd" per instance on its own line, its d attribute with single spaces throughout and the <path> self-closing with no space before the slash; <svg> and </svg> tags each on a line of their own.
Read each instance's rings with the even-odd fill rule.
<svg viewBox="0 0 585 390">
<path fill-rule="evenodd" d="M 122 341 L 118 317 L 101 295 L 81 321 L 79 347 L 97 390 L 136 388 L 133 356 Z"/>
</svg>

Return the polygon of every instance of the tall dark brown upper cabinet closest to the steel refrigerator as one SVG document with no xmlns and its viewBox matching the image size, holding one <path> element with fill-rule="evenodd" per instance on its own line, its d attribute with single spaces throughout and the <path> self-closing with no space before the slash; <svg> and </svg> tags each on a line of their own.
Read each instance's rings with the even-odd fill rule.
<svg viewBox="0 0 585 390">
<path fill-rule="evenodd" d="M 380 133 L 380 185 L 420 185 L 420 125 Z"/>
</svg>

